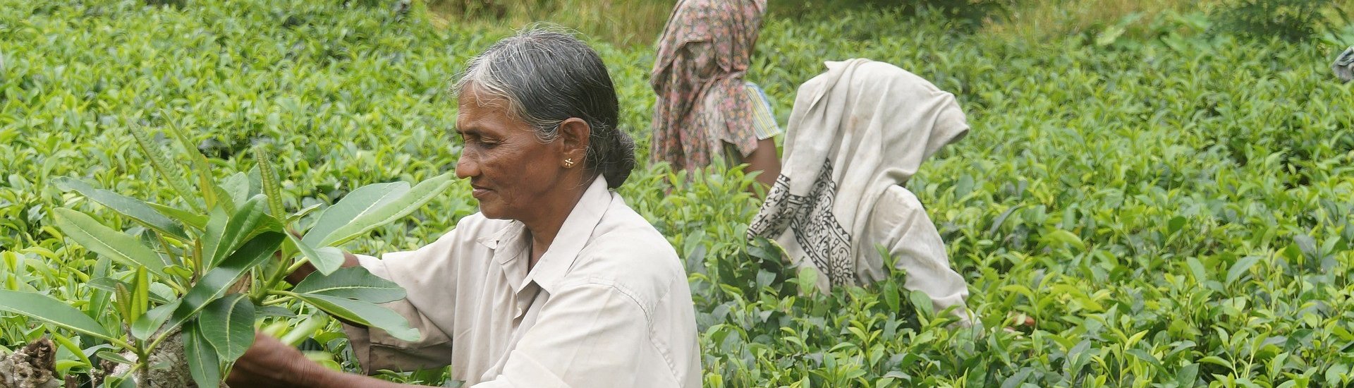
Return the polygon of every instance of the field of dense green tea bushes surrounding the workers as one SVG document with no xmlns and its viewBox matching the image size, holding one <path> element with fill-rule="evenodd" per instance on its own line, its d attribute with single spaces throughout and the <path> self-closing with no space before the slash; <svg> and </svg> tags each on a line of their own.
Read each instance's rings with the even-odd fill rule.
<svg viewBox="0 0 1354 388">
<path fill-rule="evenodd" d="M 218 178 L 249 171 L 245 151 L 271 142 L 288 210 L 450 171 L 444 90 L 505 31 L 433 28 L 418 5 L 333 3 L 0 0 L 3 288 L 115 324 L 108 296 L 85 284 L 107 260 L 62 236 L 53 213 L 139 227 L 53 180 L 172 201 L 131 123 L 185 128 Z M 929 304 L 914 311 L 904 274 L 831 294 L 800 288 L 804 274 L 743 239 L 758 206 L 739 190 L 750 178 L 646 164 L 620 191 L 686 259 L 708 387 L 1350 384 L 1354 87 L 1328 73 L 1336 45 L 1354 43 L 1350 26 L 1285 43 L 1205 34 L 1209 18 L 1170 15 L 1144 39 L 1018 42 L 933 19 L 773 19 L 750 77 L 781 118 L 823 60 L 894 62 L 959 96 L 972 133 L 909 189 L 969 281 L 980 324 L 949 330 Z M 643 148 L 650 49 L 597 47 L 623 128 Z M 431 241 L 475 210 L 466 189 L 345 248 Z M 299 312 L 284 324 L 351 368 L 334 324 Z M 0 346 L 45 331 L 0 317 Z M 83 370 L 69 346 L 61 358 Z"/>
</svg>

